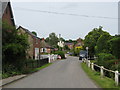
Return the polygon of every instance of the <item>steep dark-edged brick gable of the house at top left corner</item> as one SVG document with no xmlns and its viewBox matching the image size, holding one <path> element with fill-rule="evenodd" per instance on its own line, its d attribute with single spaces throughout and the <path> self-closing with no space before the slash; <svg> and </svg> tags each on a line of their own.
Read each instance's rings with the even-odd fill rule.
<svg viewBox="0 0 120 90">
<path fill-rule="evenodd" d="M 2 22 L 6 22 L 9 25 L 15 26 L 13 12 L 10 2 L 2 2 Z"/>
</svg>

